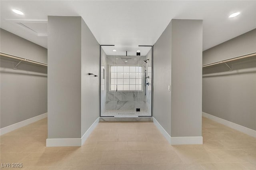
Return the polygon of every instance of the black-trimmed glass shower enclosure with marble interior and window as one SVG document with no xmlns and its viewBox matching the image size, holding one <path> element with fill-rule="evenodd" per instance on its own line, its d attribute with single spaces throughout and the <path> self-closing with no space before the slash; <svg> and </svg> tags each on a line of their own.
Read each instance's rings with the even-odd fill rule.
<svg viewBox="0 0 256 170">
<path fill-rule="evenodd" d="M 151 117 L 152 47 L 141 47 L 144 55 L 112 48 L 100 50 L 100 117 Z"/>
</svg>

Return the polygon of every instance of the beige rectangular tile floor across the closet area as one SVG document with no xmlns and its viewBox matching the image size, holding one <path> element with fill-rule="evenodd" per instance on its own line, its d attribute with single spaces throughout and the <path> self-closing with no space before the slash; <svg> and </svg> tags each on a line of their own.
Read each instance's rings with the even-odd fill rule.
<svg viewBox="0 0 256 170">
<path fill-rule="evenodd" d="M 203 118 L 202 145 L 171 146 L 152 122 L 100 122 L 81 147 L 47 147 L 47 119 L 0 137 L 25 170 L 256 170 L 256 138 Z M 1 168 L 8 169 L 8 168 Z"/>
</svg>

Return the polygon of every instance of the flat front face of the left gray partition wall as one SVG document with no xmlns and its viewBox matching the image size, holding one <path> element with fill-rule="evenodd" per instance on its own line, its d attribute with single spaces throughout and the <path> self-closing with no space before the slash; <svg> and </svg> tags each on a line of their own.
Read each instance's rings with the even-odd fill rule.
<svg viewBox="0 0 256 170">
<path fill-rule="evenodd" d="M 81 17 L 48 16 L 48 138 L 81 137 Z"/>
</svg>

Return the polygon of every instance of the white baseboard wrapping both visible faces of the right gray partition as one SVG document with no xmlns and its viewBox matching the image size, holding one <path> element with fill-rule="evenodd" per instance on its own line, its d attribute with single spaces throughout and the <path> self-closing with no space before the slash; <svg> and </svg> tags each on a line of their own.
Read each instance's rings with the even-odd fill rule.
<svg viewBox="0 0 256 170">
<path fill-rule="evenodd" d="M 171 137 L 166 130 L 158 123 L 158 121 L 153 117 L 153 122 L 160 132 L 164 135 L 166 140 L 171 144 L 203 144 L 202 136 L 185 136 L 185 137 Z"/>
</svg>

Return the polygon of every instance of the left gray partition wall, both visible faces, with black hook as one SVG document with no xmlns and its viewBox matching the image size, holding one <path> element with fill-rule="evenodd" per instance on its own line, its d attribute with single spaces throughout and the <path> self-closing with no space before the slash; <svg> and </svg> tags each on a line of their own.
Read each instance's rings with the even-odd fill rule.
<svg viewBox="0 0 256 170">
<path fill-rule="evenodd" d="M 48 16 L 48 138 L 81 138 L 99 117 L 99 44 L 81 17 Z"/>
</svg>

